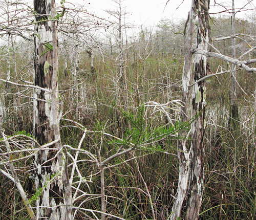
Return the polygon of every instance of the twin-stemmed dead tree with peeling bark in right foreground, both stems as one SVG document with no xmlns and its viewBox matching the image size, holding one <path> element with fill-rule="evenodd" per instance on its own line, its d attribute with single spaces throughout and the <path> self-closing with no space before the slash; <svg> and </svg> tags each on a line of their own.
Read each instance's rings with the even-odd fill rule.
<svg viewBox="0 0 256 220">
<path fill-rule="evenodd" d="M 178 143 L 179 160 L 179 183 L 178 191 L 174 201 L 172 213 L 169 219 L 177 219 L 181 216 L 183 202 L 188 194 L 188 204 L 186 207 L 186 219 L 198 219 L 203 193 L 203 167 L 204 167 L 204 107 L 205 107 L 205 82 L 194 83 L 192 86 L 192 103 L 189 98 L 190 77 L 192 68 L 191 51 L 193 43 L 193 31 L 197 14 L 197 48 L 207 51 L 208 48 L 208 9 L 209 1 L 192 1 L 191 10 L 187 18 L 187 54 L 183 66 L 182 75 L 182 101 L 184 107 L 181 111 L 180 121 L 192 120 L 191 129 L 188 134 L 184 129 L 180 132 L 183 140 Z M 194 82 L 206 75 L 206 56 L 196 54 L 194 67 Z M 192 112 L 191 112 L 192 107 Z M 188 142 L 191 131 L 192 141 Z M 189 146 L 190 145 L 190 146 Z M 189 184 L 189 185 L 188 185 Z"/>
</svg>

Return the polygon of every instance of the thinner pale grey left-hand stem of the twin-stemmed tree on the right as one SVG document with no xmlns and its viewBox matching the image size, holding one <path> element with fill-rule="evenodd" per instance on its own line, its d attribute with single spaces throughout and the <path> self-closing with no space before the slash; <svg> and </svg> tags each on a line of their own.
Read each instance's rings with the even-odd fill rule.
<svg viewBox="0 0 256 220">
<path fill-rule="evenodd" d="M 193 43 L 193 31 L 195 27 L 195 17 L 196 17 L 196 5 L 194 0 L 191 3 L 191 10 L 188 16 L 188 33 L 187 33 L 187 53 L 184 60 L 183 73 L 182 73 L 182 101 L 184 107 L 181 109 L 180 122 L 186 122 L 191 118 L 191 108 L 190 108 L 190 98 L 189 98 L 189 85 L 191 82 L 191 68 L 192 68 L 192 56 L 190 52 Z M 179 133 L 183 140 L 178 142 L 178 160 L 179 160 L 179 182 L 176 194 L 176 199 L 174 201 L 172 214 L 169 219 L 176 220 L 181 215 L 182 205 L 185 199 L 187 185 L 188 185 L 188 172 L 189 172 L 189 151 L 186 136 L 187 131 L 184 128 Z"/>
</svg>

